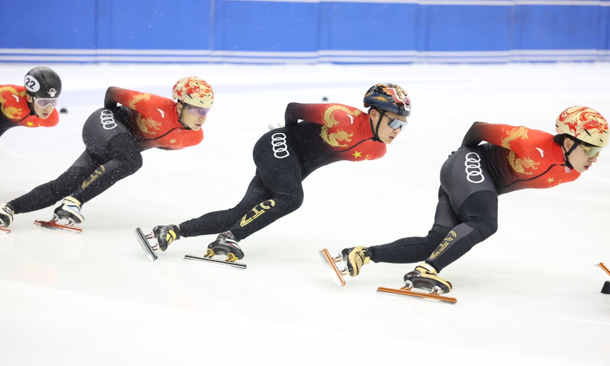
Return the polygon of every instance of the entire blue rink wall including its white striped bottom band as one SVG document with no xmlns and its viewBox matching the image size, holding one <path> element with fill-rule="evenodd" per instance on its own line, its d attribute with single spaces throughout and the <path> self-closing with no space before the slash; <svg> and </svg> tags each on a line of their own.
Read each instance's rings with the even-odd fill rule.
<svg viewBox="0 0 610 366">
<path fill-rule="evenodd" d="M 610 0 L 393 1 L 0 0 L 0 61 L 610 60 Z"/>
</svg>

